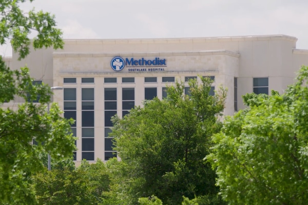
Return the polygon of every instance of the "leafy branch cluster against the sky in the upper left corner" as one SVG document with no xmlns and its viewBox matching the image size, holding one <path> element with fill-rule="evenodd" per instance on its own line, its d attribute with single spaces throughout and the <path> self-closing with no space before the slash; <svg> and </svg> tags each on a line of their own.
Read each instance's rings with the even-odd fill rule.
<svg viewBox="0 0 308 205">
<path fill-rule="evenodd" d="M 33 0 L 29 0 L 32 2 Z M 0 3 L 0 44 L 10 40 L 13 50 L 24 58 L 29 54 L 31 41 L 34 49 L 63 48 L 62 31 L 56 28 L 54 16 L 48 12 L 32 9 L 23 12 L 20 4 L 27 0 L 2 0 Z M 31 40 L 31 32 L 37 35 Z"/>
</svg>

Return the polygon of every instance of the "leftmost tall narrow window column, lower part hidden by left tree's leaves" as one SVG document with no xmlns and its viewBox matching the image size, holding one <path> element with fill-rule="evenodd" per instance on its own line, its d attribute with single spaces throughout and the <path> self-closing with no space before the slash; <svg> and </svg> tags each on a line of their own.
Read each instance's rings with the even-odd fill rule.
<svg viewBox="0 0 308 205">
<path fill-rule="evenodd" d="M 63 90 L 64 118 L 74 119 L 71 125 L 73 136 L 76 135 L 76 88 L 64 88 Z M 75 141 L 76 145 L 76 141 Z M 73 160 L 76 160 L 76 151 L 73 152 Z"/>
</svg>

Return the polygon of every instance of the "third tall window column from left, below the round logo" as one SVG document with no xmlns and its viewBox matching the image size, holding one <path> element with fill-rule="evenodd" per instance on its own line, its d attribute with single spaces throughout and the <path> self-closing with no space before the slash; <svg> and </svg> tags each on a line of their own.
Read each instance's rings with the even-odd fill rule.
<svg viewBox="0 0 308 205">
<path fill-rule="evenodd" d="M 113 138 L 108 137 L 111 132 L 111 117 L 117 114 L 117 88 L 105 88 L 105 160 L 117 157 L 117 152 L 113 150 Z"/>
</svg>

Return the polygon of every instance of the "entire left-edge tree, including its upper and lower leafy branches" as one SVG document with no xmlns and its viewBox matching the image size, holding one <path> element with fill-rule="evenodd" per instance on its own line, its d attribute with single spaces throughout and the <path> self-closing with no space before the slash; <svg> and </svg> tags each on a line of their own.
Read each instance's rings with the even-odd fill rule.
<svg viewBox="0 0 308 205">
<path fill-rule="evenodd" d="M 18 4 L 25 0 L 3 0 L 0 3 L 0 44 L 11 40 L 15 52 L 24 58 L 29 47 L 34 49 L 52 46 L 63 47 L 61 31 L 55 28 L 54 17 L 49 13 L 23 13 Z M 31 1 L 32 2 L 32 1 Z M 31 41 L 32 30 L 37 36 Z M 32 45 L 31 45 L 32 42 Z M 44 169 L 38 154 L 45 150 L 54 159 L 68 157 L 75 149 L 70 123 L 60 116 L 55 104 L 47 113 L 46 104 L 52 94 L 47 85 L 32 85 L 28 68 L 10 70 L 0 56 L 0 106 L 22 97 L 26 103 L 16 109 L 0 108 L 0 203 L 34 204 L 31 175 Z M 32 103 L 40 96 L 41 104 Z M 29 101 L 29 103 L 27 103 Z M 37 146 L 31 145 L 35 138 Z"/>
</svg>

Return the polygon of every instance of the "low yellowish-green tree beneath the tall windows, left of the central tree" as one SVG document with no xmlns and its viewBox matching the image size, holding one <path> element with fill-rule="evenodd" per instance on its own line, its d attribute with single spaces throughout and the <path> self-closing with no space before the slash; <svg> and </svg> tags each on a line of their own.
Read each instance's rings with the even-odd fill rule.
<svg viewBox="0 0 308 205">
<path fill-rule="evenodd" d="M 103 191 L 109 190 L 109 177 L 104 162 L 82 161 L 75 168 L 72 159 L 53 163 L 49 172 L 34 176 L 39 204 L 98 204 Z"/>
</svg>

